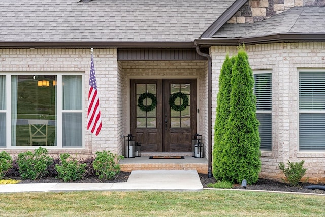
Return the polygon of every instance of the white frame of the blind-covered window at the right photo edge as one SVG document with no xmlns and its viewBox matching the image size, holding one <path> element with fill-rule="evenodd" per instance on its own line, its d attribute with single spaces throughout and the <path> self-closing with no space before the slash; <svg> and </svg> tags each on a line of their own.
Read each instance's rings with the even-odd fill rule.
<svg viewBox="0 0 325 217">
<path fill-rule="evenodd" d="M 298 152 L 302 152 L 302 153 L 306 153 L 306 152 L 313 152 L 313 153 L 324 153 L 325 152 L 325 145 L 323 146 L 323 149 L 302 149 L 301 148 L 301 144 L 300 144 L 300 130 L 301 130 L 301 126 L 300 126 L 300 115 L 301 114 L 324 114 L 325 115 L 325 108 L 324 109 L 301 109 L 300 108 L 300 74 L 301 73 L 310 73 L 310 74 L 314 74 L 314 73 L 323 73 L 325 76 L 325 68 L 298 68 L 297 69 L 297 150 Z M 324 98 L 325 101 L 325 98 Z M 325 123 L 324 123 L 325 125 Z M 325 129 L 325 126 L 324 126 Z"/>
</svg>

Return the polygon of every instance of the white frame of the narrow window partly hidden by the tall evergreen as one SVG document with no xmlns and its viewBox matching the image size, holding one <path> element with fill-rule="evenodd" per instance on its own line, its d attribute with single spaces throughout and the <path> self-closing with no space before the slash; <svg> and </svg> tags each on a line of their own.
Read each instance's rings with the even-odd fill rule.
<svg viewBox="0 0 325 217">
<path fill-rule="evenodd" d="M 273 138 L 273 127 L 272 127 L 272 110 L 273 110 L 273 104 L 272 104 L 272 102 L 273 102 L 273 84 L 272 84 L 272 70 L 253 70 L 253 77 L 254 77 L 254 95 L 255 95 L 255 85 L 256 85 L 256 79 L 255 79 L 255 75 L 258 75 L 258 74 L 270 74 L 270 76 L 271 76 L 271 108 L 270 108 L 270 110 L 266 110 L 266 109 L 257 109 L 257 106 L 256 106 L 256 115 L 257 114 L 270 114 L 270 116 L 271 116 L 271 132 L 270 132 L 270 134 L 271 134 L 271 144 L 270 144 L 270 148 L 268 149 L 268 148 L 262 148 L 261 149 L 261 147 L 260 147 L 260 150 L 261 151 L 264 151 L 264 152 L 272 152 L 272 138 Z M 256 96 L 256 95 L 255 95 Z M 257 105 L 257 97 L 256 97 L 256 105 Z M 259 121 L 259 120 L 258 120 Z M 261 126 L 261 125 L 260 125 Z M 258 130 L 259 130 L 259 128 L 258 128 Z M 262 138 L 261 138 L 261 136 L 260 136 L 260 139 L 261 139 L 261 141 L 262 141 Z"/>
</svg>

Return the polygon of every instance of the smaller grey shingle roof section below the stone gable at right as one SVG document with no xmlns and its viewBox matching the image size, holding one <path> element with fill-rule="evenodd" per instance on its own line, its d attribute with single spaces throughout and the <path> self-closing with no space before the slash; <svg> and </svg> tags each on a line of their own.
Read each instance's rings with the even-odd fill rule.
<svg viewBox="0 0 325 217">
<path fill-rule="evenodd" d="M 259 37 L 279 33 L 325 33 L 325 7 L 297 7 L 256 23 L 225 24 L 213 38 Z"/>
</svg>

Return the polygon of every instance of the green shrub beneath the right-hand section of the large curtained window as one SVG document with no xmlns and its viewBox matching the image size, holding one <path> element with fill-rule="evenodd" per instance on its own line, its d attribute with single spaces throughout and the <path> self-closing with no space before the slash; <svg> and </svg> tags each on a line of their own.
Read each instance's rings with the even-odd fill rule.
<svg viewBox="0 0 325 217">
<path fill-rule="evenodd" d="M 67 160 L 69 157 L 68 153 L 60 154 L 61 165 L 55 165 L 55 170 L 57 171 L 56 178 L 63 179 L 64 182 L 82 179 L 86 172 L 87 164 L 79 163 L 75 158 Z"/>
</svg>

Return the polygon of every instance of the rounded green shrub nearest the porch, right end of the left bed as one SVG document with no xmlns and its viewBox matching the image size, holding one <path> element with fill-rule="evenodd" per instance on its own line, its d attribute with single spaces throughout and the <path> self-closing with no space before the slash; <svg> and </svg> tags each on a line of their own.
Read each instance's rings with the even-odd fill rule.
<svg viewBox="0 0 325 217">
<path fill-rule="evenodd" d="M 112 179 L 120 172 L 120 165 L 116 161 L 123 159 L 122 155 L 117 156 L 110 151 L 96 152 L 96 155 L 93 161 L 93 169 L 101 180 Z"/>
</svg>

